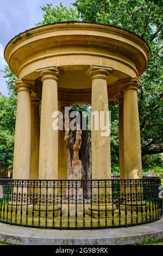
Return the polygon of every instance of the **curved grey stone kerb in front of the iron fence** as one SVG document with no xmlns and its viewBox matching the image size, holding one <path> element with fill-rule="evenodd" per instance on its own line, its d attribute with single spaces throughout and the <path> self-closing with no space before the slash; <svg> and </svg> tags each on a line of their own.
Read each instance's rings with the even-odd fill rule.
<svg viewBox="0 0 163 256">
<path fill-rule="evenodd" d="M 58 230 L 27 228 L 0 223 L 0 241 L 15 245 L 131 245 L 163 239 L 163 217 L 159 221 L 127 228 Z"/>
</svg>

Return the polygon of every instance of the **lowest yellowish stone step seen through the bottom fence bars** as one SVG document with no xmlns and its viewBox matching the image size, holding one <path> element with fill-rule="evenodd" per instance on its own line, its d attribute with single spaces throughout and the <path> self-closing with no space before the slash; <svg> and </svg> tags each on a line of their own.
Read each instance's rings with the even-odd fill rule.
<svg viewBox="0 0 163 256">
<path fill-rule="evenodd" d="M 80 212 L 81 214 L 81 212 Z M 26 220 L 26 215 L 14 215 L 12 214 L 12 218 L 10 213 L 7 216 L 7 212 L 4 215 L 1 215 L 1 220 L 6 221 L 6 222 L 11 222 L 11 223 L 16 223 L 16 224 L 22 224 L 22 225 L 30 225 L 33 227 L 55 227 L 55 228 L 60 228 L 60 221 L 62 227 L 76 227 L 76 221 L 77 221 L 77 227 L 104 227 L 105 225 L 112 227 L 112 225 L 129 225 L 129 224 L 136 224 L 136 223 L 141 223 L 141 222 L 146 222 L 150 219 L 153 218 L 153 216 L 149 215 L 135 215 L 133 214 L 128 214 L 127 216 L 125 215 L 125 212 L 121 212 L 121 216 L 117 216 L 117 213 L 115 214 L 114 218 L 112 217 L 103 217 L 103 218 L 92 218 L 89 215 L 85 215 L 85 217 L 81 214 L 78 215 L 76 218 L 74 215 L 68 217 L 67 215 L 62 215 L 62 218 L 60 216 L 56 216 L 54 219 L 53 218 L 45 218 L 45 217 L 38 217 L 38 216 L 28 216 L 28 221 Z M 11 220 L 10 220 L 11 218 Z M 155 216 L 154 216 L 155 218 Z M 69 223 L 69 224 L 68 224 Z"/>
</svg>

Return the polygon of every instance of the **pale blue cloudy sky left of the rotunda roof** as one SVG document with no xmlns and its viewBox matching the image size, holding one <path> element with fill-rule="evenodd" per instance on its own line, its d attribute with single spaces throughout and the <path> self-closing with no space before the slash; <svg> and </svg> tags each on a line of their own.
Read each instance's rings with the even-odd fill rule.
<svg viewBox="0 0 163 256">
<path fill-rule="evenodd" d="M 41 5 L 60 2 L 70 7 L 73 0 L 0 0 L 0 70 L 4 69 L 5 60 L 3 51 L 8 42 L 17 34 L 35 26 L 36 22 L 43 20 Z M 0 72 L 0 92 L 8 95 L 7 86 Z"/>
</svg>

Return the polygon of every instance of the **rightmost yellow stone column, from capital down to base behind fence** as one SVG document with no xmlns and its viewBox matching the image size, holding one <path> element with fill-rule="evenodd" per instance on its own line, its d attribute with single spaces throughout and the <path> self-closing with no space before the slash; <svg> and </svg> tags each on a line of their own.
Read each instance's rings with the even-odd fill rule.
<svg viewBox="0 0 163 256">
<path fill-rule="evenodd" d="M 140 85 L 138 78 L 132 78 L 123 84 L 124 93 L 124 169 L 125 179 L 142 179 L 141 142 L 139 110 L 137 104 L 137 87 Z M 130 199 L 121 205 L 121 210 L 143 212 L 149 208 L 143 200 L 143 185 L 141 181 L 127 184 L 125 193 L 130 194 Z M 141 199 L 140 199 L 141 198 Z"/>
</svg>

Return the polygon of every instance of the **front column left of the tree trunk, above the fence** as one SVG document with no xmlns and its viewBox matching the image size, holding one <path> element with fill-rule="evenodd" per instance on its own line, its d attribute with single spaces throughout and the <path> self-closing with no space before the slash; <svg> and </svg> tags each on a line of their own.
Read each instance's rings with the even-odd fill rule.
<svg viewBox="0 0 163 256">
<path fill-rule="evenodd" d="M 58 111 L 58 77 L 55 70 L 43 70 L 40 125 L 39 179 L 58 179 L 58 130 L 53 130 L 52 114 Z"/>
</svg>

